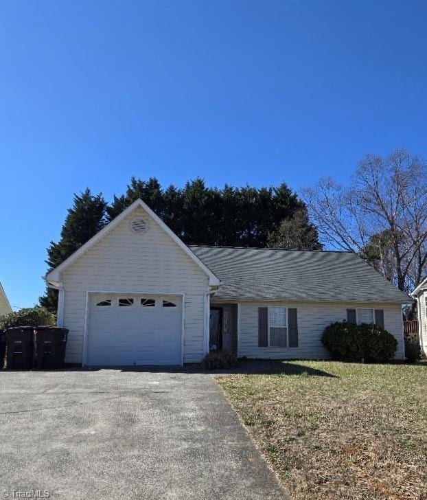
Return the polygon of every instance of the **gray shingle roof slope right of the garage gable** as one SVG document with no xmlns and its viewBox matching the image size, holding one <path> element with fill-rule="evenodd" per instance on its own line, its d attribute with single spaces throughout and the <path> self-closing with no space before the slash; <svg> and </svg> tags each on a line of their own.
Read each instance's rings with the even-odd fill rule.
<svg viewBox="0 0 427 500">
<path fill-rule="evenodd" d="M 220 278 L 218 299 L 411 302 L 355 253 L 189 248 Z"/>
</svg>

